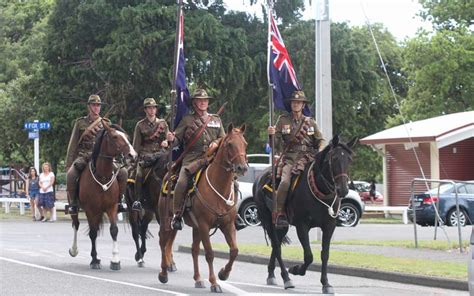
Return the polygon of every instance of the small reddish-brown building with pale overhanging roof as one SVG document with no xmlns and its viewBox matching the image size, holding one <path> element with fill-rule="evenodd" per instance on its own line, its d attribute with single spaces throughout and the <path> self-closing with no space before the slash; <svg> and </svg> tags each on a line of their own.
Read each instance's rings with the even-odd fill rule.
<svg viewBox="0 0 474 296">
<path fill-rule="evenodd" d="M 383 156 L 387 206 L 408 204 L 413 178 L 474 180 L 474 111 L 406 123 L 360 142 Z"/>
</svg>

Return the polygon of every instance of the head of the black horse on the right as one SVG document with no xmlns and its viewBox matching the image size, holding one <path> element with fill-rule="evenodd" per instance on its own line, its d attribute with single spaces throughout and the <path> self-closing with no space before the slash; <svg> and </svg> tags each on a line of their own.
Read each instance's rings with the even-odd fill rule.
<svg viewBox="0 0 474 296">
<path fill-rule="evenodd" d="M 334 184 L 333 190 L 340 197 L 346 196 L 349 191 L 347 171 L 352 162 L 352 147 L 357 143 L 357 140 L 357 138 L 353 138 L 349 143 L 345 144 L 336 135 L 322 151 L 323 157 L 321 161 L 323 163 L 320 165 L 323 175 L 330 183 Z"/>
</svg>

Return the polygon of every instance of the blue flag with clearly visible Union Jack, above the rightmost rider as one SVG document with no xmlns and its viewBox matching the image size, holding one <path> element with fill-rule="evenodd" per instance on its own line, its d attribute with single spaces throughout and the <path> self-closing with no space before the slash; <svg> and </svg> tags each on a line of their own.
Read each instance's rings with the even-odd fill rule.
<svg viewBox="0 0 474 296">
<path fill-rule="evenodd" d="M 301 87 L 272 11 L 269 12 L 269 22 L 268 82 L 273 87 L 273 103 L 277 109 L 291 112 L 290 104 L 285 102 L 288 102 L 286 100 L 294 91 L 301 90 Z M 305 106 L 303 114 L 306 116 L 311 114 L 308 105 Z"/>
</svg>

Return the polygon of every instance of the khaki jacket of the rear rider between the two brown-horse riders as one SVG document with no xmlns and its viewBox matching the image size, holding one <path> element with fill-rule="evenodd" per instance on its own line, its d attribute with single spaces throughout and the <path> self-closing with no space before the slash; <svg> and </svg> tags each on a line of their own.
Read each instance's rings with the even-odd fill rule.
<svg viewBox="0 0 474 296">
<path fill-rule="evenodd" d="M 158 133 L 154 135 L 156 131 Z M 168 131 L 168 124 L 164 119 L 155 118 L 155 121 L 151 122 L 145 117 L 137 122 L 133 133 L 133 148 L 139 158 L 143 159 L 158 152 L 161 149 L 161 142 L 166 140 Z"/>
</svg>

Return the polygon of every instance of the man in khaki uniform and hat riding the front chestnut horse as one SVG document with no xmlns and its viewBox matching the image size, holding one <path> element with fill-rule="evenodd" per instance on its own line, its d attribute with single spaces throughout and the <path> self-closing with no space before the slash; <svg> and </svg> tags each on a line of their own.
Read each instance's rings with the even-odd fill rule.
<svg viewBox="0 0 474 296">
<path fill-rule="evenodd" d="M 175 215 L 171 227 L 175 230 L 183 228 L 181 210 L 190 177 L 206 164 L 207 151 L 217 149 L 220 139 L 225 137 L 225 130 L 220 117 L 207 113 L 209 100 L 213 98 L 208 96 L 204 89 L 197 89 L 191 99 L 194 113 L 184 116 L 178 124 L 175 131 L 175 145 L 181 144 L 183 147 L 187 147 L 190 142 L 195 140 L 195 134 L 206 122 L 208 116 L 211 116 L 211 119 L 207 123 L 204 132 L 183 158 L 173 197 Z"/>
</svg>

